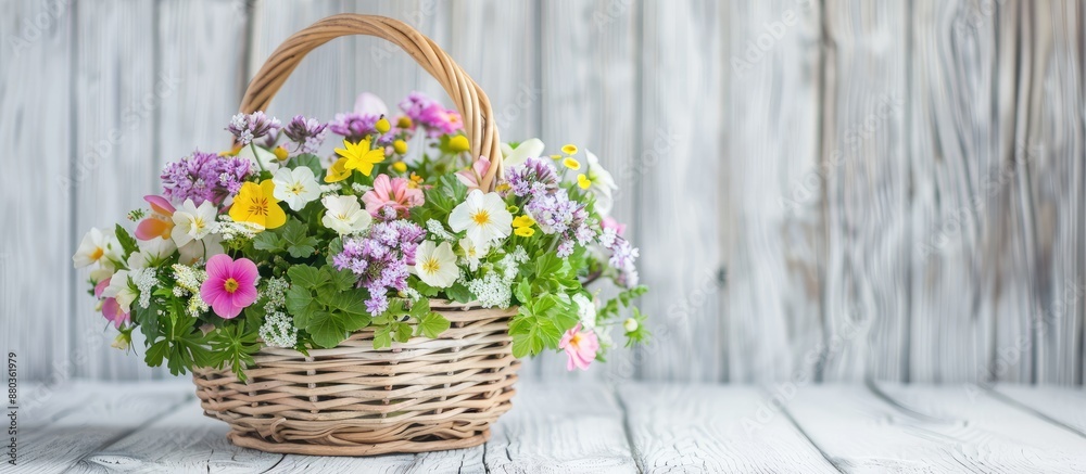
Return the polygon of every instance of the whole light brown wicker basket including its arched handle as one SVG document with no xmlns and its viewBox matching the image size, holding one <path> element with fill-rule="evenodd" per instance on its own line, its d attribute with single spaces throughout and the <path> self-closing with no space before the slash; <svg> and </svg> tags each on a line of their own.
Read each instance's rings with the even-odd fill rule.
<svg viewBox="0 0 1086 474">
<path fill-rule="evenodd" d="M 464 117 L 472 156 L 491 159 L 481 182 L 491 189 L 502 154 L 487 95 L 433 41 L 395 20 L 342 14 L 294 34 L 250 82 L 241 112 L 265 110 L 306 53 L 345 35 L 387 39 L 438 79 Z M 265 347 L 245 383 L 229 370 L 195 370 L 204 414 L 229 423 L 233 444 L 272 452 L 368 456 L 478 446 L 510 407 L 519 368 L 508 335 L 516 308 L 438 299 L 430 308 L 452 324 L 437 340 L 374 349 L 372 330 L 363 330 L 308 357 Z"/>
</svg>

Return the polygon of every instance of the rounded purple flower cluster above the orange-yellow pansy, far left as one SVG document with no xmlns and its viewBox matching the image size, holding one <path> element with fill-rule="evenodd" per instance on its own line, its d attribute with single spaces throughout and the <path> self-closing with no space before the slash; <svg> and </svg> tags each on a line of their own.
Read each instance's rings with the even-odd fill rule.
<svg viewBox="0 0 1086 474">
<path fill-rule="evenodd" d="M 237 194 L 251 174 L 249 159 L 197 151 L 166 165 L 160 178 L 163 194 L 175 203 L 191 198 L 198 206 L 204 201 L 218 206 L 227 196 Z"/>
</svg>

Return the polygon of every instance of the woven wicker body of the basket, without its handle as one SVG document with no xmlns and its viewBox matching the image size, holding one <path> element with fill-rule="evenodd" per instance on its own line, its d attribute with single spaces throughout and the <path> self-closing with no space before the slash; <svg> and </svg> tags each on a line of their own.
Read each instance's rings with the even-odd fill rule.
<svg viewBox="0 0 1086 474">
<path fill-rule="evenodd" d="M 229 370 L 197 369 L 204 414 L 230 425 L 238 446 L 268 452 L 369 456 L 478 446 L 510 408 L 520 362 L 509 320 L 516 308 L 431 300 L 449 319 L 441 337 L 374 349 L 374 331 L 310 356 L 265 347 L 242 383 Z"/>
</svg>

